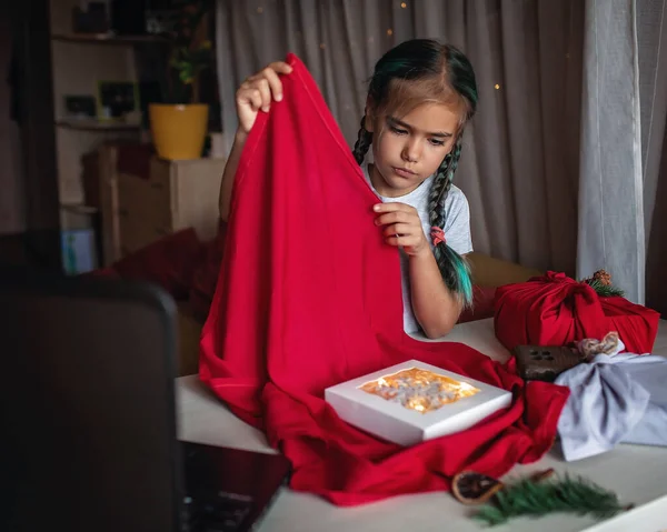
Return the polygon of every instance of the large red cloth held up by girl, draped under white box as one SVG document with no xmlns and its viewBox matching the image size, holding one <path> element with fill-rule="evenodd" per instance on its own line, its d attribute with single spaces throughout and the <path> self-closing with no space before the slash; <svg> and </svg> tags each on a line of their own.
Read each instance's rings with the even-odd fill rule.
<svg viewBox="0 0 667 532">
<path fill-rule="evenodd" d="M 302 63 L 259 114 L 241 155 L 200 378 L 293 465 L 291 488 L 352 505 L 449 488 L 462 469 L 500 475 L 552 443 L 565 388 L 524 382 L 456 343 L 402 332 L 399 258 L 378 201 Z M 459 434 L 404 449 L 342 422 L 323 390 L 417 359 L 511 390 Z"/>
</svg>

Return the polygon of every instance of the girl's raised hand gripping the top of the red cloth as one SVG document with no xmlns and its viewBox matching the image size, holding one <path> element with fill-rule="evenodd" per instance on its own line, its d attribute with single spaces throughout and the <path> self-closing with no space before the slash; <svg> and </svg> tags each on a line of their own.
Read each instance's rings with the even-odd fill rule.
<svg viewBox="0 0 667 532">
<path fill-rule="evenodd" d="M 260 109 L 268 112 L 272 100 L 282 100 L 282 82 L 278 74 L 291 71 L 286 62 L 273 62 L 241 83 L 236 93 L 240 133 L 250 132 Z"/>
</svg>

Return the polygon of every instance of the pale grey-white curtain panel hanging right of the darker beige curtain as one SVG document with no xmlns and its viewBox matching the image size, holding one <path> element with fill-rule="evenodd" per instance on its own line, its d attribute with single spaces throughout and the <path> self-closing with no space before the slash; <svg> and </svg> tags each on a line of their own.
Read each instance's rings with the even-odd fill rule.
<svg viewBox="0 0 667 532">
<path fill-rule="evenodd" d="M 586 0 L 577 271 L 644 302 L 646 243 L 636 0 Z"/>
</svg>

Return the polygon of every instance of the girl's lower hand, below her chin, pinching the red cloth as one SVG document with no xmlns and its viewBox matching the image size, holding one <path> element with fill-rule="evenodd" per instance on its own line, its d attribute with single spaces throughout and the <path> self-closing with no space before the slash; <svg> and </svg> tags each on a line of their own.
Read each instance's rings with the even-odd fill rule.
<svg viewBox="0 0 667 532">
<path fill-rule="evenodd" d="M 389 245 L 400 245 L 412 257 L 430 251 L 417 209 L 405 203 L 378 203 L 372 209 L 380 214 L 375 223 L 385 228 L 382 233 Z"/>
</svg>

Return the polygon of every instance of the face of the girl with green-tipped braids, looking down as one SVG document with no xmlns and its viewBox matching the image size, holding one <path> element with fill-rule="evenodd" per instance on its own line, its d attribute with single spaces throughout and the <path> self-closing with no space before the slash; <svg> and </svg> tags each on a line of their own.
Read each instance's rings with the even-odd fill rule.
<svg viewBox="0 0 667 532">
<path fill-rule="evenodd" d="M 372 185 L 380 195 L 410 193 L 432 175 L 451 151 L 459 113 L 441 103 L 424 103 L 398 118 L 367 119 L 372 133 Z"/>
</svg>

